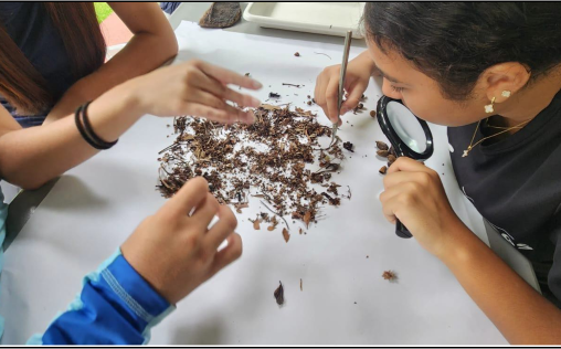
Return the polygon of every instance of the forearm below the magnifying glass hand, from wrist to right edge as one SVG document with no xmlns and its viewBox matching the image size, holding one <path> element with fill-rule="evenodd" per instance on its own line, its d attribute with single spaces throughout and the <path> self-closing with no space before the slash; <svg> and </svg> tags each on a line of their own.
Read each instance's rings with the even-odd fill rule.
<svg viewBox="0 0 561 349">
<path fill-rule="evenodd" d="M 465 225 L 455 230 L 458 247 L 442 260 L 505 338 L 512 345 L 560 345 L 561 311 Z"/>
</svg>

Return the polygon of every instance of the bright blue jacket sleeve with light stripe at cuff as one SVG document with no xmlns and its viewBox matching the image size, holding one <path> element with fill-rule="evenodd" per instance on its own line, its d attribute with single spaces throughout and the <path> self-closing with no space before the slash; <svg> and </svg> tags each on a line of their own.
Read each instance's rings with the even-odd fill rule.
<svg viewBox="0 0 561 349">
<path fill-rule="evenodd" d="M 68 310 L 28 345 L 139 346 L 173 307 L 117 253 L 88 275 Z"/>
</svg>

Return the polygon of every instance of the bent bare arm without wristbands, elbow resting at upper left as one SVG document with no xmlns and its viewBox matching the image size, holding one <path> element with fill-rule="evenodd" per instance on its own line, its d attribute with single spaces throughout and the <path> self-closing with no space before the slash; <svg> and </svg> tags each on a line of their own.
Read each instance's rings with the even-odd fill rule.
<svg viewBox="0 0 561 349">
<path fill-rule="evenodd" d="M 134 33 L 117 55 L 98 71 L 76 82 L 47 115 L 45 125 L 73 113 L 81 104 L 161 66 L 178 53 L 173 30 L 156 2 L 110 2 Z"/>
</svg>

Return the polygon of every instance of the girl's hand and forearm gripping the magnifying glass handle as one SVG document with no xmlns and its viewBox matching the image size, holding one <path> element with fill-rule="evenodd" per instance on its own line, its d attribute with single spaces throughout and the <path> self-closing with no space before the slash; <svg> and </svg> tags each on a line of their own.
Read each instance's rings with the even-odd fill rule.
<svg viewBox="0 0 561 349">
<path fill-rule="evenodd" d="M 424 248 L 448 266 L 510 343 L 561 345 L 561 310 L 459 221 L 435 171 L 400 158 L 384 187 L 380 200 L 388 220 L 401 220 Z"/>
</svg>

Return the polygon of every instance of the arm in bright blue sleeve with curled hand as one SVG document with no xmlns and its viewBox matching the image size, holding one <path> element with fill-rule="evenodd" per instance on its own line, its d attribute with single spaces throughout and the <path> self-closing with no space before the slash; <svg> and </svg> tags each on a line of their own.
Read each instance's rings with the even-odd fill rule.
<svg viewBox="0 0 561 349">
<path fill-rule="evenodd" d="M 236 225 L 232 210 L 209 193 L 204 179 L 189 181 L 137 228 L 123 254 L 86 277 L 70 309 L 29 343 L 147 343 L 150 329 L 173 309 L 170 304 L 240 258 Z M 227 246 L 219 251 L 224 242 Z"/>
</svg>

